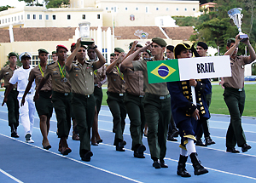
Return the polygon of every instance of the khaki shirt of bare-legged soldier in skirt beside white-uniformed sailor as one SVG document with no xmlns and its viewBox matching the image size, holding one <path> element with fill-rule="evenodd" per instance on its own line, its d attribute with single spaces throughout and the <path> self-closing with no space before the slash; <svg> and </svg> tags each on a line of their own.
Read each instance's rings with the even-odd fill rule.
<svg viewBox="0 0 256 183">
<path fill-rule="evenodd" d="M 45 72 L 45 71 L 44 71 Z M 38 89 L 39 83 L 41 82 L 43 76 L 38 66 L 33 68 L 30 71 L 28 81 L 33 82 L 35 80 L 36 83 L 36 89 Z M 44 83 L 44 86 L 41 90 L 51 90 L 51 77 Z"/>
</svg>

